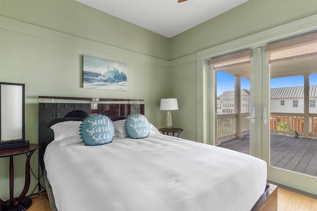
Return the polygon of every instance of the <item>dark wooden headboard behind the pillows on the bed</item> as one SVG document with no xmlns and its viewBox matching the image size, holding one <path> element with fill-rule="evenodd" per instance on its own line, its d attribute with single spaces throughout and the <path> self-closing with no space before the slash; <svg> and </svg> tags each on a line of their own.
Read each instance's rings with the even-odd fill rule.
<svg viewBox="0 0 317 211">
<path fill-rule="evenodd" d="M 71 103 L 39 103 L 39 163 L 41 169 L 44 169 L 44 153 L 47 145 L 54 139 L 53 130 L 50 128 L 58 122 L 64 121 L 82 121 L 88 116 L 94 114 L 103 114 L 112 121 L 125 119 L 131 113 L 140 113 L 144 115 L 145 105 L 139 103 L 144 101 L 140 99 L 109 99 L 98 98 L 74 98 L 74 97 L 43 97 L 50 99 L 67 99 L 75 102 Z M 76 103 L 76 100 L 88 100 L 91 103 Z M 54 100 L 52 100 L 54 101 Z M 106 103 L 104 103 L 106 102 Z M 137 102 L 137 103 L 135 103 Z"/>
</svg>

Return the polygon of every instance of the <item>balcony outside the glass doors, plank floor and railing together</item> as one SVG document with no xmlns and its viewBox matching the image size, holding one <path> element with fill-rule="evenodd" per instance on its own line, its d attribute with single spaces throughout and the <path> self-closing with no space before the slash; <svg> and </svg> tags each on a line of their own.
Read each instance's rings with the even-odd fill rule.
<svg viewBox="0 0 317 211">
<path fill-rule="evenodd" d="M 219 147 L 250 154 L 250 120 L 241 118 L 243 138 L 235 136 L 235 114 L 217 115 Z M 249 116 L 248 113 L 241 114 Z M 317 114 L 310 114 L 309 135 L 304 137 L 304 115 L 271 113 L 270 166 L 317 176 Z M 297 131 L 299 137 L 294 136 Z"/>
</svg>

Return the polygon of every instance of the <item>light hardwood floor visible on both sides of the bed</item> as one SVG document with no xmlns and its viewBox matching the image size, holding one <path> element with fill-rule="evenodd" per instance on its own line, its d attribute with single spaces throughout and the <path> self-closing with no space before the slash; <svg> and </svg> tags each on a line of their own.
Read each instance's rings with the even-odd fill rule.
<svg viewBox="0 0 317 211">
<path fill-rule="evenodd" d="M 283 188 L 278 188 L 277 210 L 317 211 L 317 199 L 313 199 Z M 50 203 L 46 193 L 40 193 L 37 198 L 32 199 L 32 206 L 28 209 L 28 211 L 51 211 Z"/>
</svg>

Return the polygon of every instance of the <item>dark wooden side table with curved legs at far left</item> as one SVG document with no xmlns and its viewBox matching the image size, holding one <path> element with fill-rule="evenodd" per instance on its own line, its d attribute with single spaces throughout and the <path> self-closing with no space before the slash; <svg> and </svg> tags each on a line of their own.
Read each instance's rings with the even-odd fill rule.
<svg viewBox="0 0 317 211">
<path fill-rule="evenodd" d="M 30 187 L 30 159 L 32 154 L 39 148 L 38 144 L 30 144 L 27 147 L 17 147 L 0 150 L 0 158 L 10 157 L 10 199 L 3 201 L 0 199 L 1 211 L 25 211 L 32 205 L 32 199 L 25 197 Z M 29 153 L 25 163 L 25 183 L 19 197 L 13 198 L 13 156 Z"/>
</svg>

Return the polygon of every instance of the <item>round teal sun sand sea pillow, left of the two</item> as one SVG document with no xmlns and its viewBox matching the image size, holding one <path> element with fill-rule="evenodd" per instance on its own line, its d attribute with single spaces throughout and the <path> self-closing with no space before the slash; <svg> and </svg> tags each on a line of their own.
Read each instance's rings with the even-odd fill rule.
<svg viewBox="0 0 317 211">
<path fill-rule="evenodd" d="M 80 135 L 88 146 L 103 145 L 112 142 L 114 127 L 112 121 L 105 115 L 93 115 L 83 120 Z"/>
</svg>

